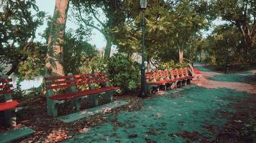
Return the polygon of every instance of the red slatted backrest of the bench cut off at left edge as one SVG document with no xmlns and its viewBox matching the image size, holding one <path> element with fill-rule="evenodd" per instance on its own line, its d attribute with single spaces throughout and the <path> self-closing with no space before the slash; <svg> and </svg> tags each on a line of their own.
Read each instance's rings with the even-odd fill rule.
<svg viewBox="0 0 256 143">
<path fill-rule="evenodd" d="M 0 78 L 0 94 L 12 94 L 12 79 Z"/>
</svg>

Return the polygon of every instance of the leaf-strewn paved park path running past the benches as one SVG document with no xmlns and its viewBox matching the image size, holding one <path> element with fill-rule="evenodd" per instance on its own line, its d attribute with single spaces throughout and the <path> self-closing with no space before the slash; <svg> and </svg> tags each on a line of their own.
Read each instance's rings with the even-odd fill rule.
<svg viewBox="0 0 256 143">
<path fill-rule="evenodd" d="M 141 109 L 108 114 L 107 122 L 65 142 L 210 142 L 224 127 L 237 98 L 254 94 L 252 71 L 220 74 L 196 65 L 204 77 L 140 102 Z"/>
</svg>

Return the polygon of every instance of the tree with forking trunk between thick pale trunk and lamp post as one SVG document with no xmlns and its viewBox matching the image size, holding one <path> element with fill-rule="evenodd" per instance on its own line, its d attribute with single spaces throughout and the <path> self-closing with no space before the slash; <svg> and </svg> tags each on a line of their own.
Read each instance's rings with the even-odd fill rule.
<svg viewBox="0 0 256 143">
<path fill-rule="evenodd" d="M 75 14 L 78 15 L 76 20 L 104 35 L 105 58 L 109 58 L 113 45 L 111 29 L 122 24 L 126 19 L 123 3 L 124 1 L 121 0 L 73 0 Z"/>
</svg>

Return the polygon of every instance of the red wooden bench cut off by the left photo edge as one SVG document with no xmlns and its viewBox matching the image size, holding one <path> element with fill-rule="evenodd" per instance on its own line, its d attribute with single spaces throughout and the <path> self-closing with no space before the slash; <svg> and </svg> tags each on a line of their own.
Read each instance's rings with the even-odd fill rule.
<svg viewBox="0 0 256 143">
<path fill-rule="evenodd" d="M 0 112 L 4 112 L 5 124 L 16 126 L 16 114 L 14 109 L 19 107 L 19 102 L 12 100 L 12 79 L 0 78 Z"/>
</svg>

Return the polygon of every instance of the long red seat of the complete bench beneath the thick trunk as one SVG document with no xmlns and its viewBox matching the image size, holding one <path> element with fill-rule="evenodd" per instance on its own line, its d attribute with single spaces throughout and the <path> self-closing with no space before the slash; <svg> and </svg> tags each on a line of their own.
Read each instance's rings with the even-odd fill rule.
<svg viewBox="0 0 256 143">
<path fill-rule="evenodd" d="M 83 97 L 86 95 L 92 95 L 92 94 L 98 94 L 101 92 L 109 92 L 112 90 L 116 90 L 119 89 L 118 87 L 102 87 L 100 89 L 88 89 L 85 91 L 80 91 L 80 92 L 71 92 L 68 94 L 58 94 L 58 95 L 54 95 L 52 97 L 50 97 L 50 99 L 52 100 L 67 100 L 67 99 L 74 99 L 77 97 Z"/>
</svg>

